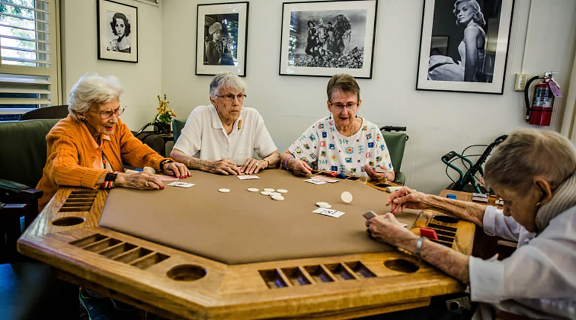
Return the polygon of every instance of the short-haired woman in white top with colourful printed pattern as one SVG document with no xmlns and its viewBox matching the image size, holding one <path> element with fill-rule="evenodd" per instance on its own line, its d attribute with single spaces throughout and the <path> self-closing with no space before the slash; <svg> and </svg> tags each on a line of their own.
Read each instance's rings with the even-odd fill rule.
<svg viewBox="0 0 576 320">
<path fill-rule="evenodd" d="M 336 74 L 326 93 L 330 115 L 310 125 L 282 153 L 282 165 L 296 176 L 312 174 L 314 168 L 393 181 L 394 168 L 380 129 L 357 115 L 362 100 L 356 79 Z"/>
</svg>

